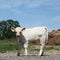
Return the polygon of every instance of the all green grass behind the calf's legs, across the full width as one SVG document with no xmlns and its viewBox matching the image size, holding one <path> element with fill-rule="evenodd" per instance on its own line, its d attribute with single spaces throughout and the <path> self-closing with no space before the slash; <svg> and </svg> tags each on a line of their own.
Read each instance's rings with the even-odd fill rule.
<svg viewBox="0 0 60 60">
<path fill-rule="evenodd" d="M 29 52 L 33 52 L 33 51 L 37 51 L 37 53 L 39 52 L 39 48 L 36 45 L 32 45 L 29 44 L 29 48 L 28 51 Z M 17 44 L 17 39 L 4 39 L 4 40 L 0 40 L 0 53 L 5 53 L 7 51 L 16 51 L 18 49 L 18 44 Z M 46 46 L 45 47 L 45 51 L 49 51 L 49 50 L 57 50 L 60 51 L 60 46 Z M 24 48 L 22 46 L 21 52 L 24 52 Z"/>
</svg>

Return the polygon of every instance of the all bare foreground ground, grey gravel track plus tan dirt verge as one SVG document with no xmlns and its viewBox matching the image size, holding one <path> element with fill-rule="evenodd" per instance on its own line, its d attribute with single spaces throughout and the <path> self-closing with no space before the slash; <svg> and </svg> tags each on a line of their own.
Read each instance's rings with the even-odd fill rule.
<svg viewBox="0 0 60 60">
<path fill-rule="evenodd" d="M 60 51 L 48 51 L 44 56 L 38 55 L 22 55 L 16 56 L 17 52 L 0 53 L 0 60 L 60 60 Z"/>
</svg>

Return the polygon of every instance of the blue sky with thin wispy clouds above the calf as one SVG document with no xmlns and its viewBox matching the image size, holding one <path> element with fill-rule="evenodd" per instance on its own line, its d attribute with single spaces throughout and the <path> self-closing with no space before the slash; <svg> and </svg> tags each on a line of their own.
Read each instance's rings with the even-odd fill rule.
<svg viewBox="0 0 60 60">
<path fill-rule="evenodd" d="M 60 29 L 60 0 L 0 0 L 0 21 L 7 19 L 25 28 Z"/>
</svg>

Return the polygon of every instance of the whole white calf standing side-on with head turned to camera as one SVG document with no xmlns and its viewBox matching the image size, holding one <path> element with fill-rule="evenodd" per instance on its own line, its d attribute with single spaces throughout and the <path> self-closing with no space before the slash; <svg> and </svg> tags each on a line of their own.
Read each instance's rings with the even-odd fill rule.
<svg viewBox="0 0 60 60">
<path fill-rule="evenodd" d="M 35 27 L 30 29 L 25 29 L 21 27 L 12 27 L 12 32 L 16 32 L 18 38 L 18 44 L 20 49 L 21 42 L 24 43 L 25 55 L 27 55 L 28 41 L 29 40 L 40 40 L 40 51 L 39 55 L 43 55 L 45 43 L 48 41 L 48 29 L 47 27 Z M 20 50 L 18 51 L 18 56 L 20 55 Z"/>
</svg>

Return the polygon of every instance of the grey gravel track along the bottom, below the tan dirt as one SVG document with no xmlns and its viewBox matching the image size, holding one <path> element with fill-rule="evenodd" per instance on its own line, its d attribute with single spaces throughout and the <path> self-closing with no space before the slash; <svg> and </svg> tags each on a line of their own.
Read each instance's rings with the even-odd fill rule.
<svg viewBox="0 0 60 60">
<path fill-rule="evenodd" d="M 0 57 L 0 60 L 60 60 L 60 55 L 45 55 L 45 56 L 5 56 Z"/>
</svg>

